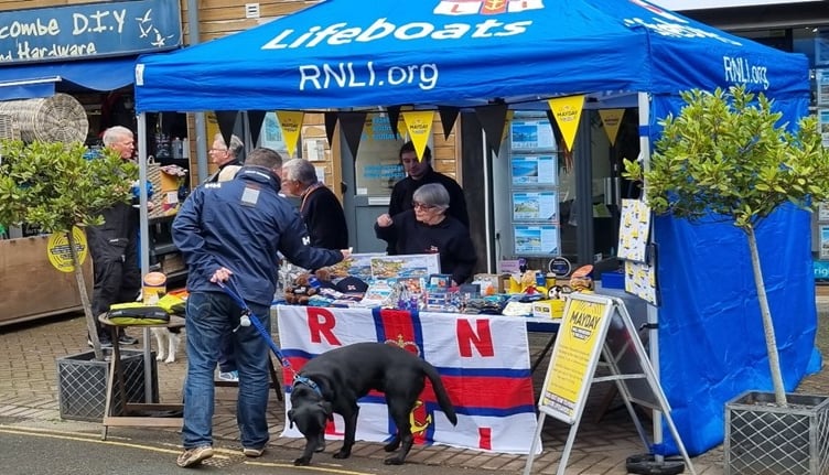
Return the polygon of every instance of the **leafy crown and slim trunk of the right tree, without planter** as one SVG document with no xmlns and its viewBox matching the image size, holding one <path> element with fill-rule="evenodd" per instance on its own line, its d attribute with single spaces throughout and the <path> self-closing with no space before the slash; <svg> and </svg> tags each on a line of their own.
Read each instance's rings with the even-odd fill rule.
<svg viewBox="0 0 829 475">
<path fill-rule="evenodd" d="M 645 198 L 657 214 L 692 222 L 720 217 L 745 234 L 775 401 L 786 406 L 755 229 L 785 203 L 814 210 L 829 199 L 829 153 L 814 117 L 800 119 L 790 132 L 762 94 L 731 87 L 681 96 L 686 106 L 679 115 L 659 122 L 663 134 L 647 169 L 625 160 L 623 175 L 644 177 Z"/>
</svg>

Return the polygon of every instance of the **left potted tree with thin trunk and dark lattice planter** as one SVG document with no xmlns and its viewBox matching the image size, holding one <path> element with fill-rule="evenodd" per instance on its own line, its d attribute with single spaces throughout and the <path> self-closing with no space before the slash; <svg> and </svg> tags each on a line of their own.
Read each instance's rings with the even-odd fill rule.
<svg viewBox="0 0 829 475">
<path fill-rule="evenodd" d="M 89 156 L 82 143 L 23 143 L 0 141 L 0 223 L 28 223 L 43 233 L 57 233 L 68 242 L 93 352 L 58 358 L 61 414 L 66 419 L 100 420 L 108 364 L 98 341 L 91 303 L 87 294 L 78 249 L 78 229 L 103 224 L 100 210 L 118 202 L 129 202 L 138 166 L 108 150 Z M 75 229 L 75 231 L 73 231 Z M 46 256 L 43 256 L 46 259 Z M 143 382 L 143 359 L 125 363 L 130 374 Z M 125 360 L 130 356 L 125 355 Z M 140 366 L 139 366 L 140 365 Z M 136 386 L 136 385 L 133 385 Z M 132 392 L 132 391 L 131 391 Z M 143 387 L 140 391 L 143 395 Z"/>
</svg>

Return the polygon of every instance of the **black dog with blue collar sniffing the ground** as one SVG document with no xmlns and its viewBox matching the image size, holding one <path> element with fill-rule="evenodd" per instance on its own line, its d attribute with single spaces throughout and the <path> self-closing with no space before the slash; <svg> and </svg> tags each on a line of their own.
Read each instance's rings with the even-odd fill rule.
<svg viewBox="0 0 829 475">
<path fill-rule="evenodd" d="M 395 421 L 397 434 L 385 445 L 386 452 L 402 449 L 387 465 L 401 465 L 408 455 L 413 438 L 409 413 L 426 386 L 426 377 L 432 382 L 438 403 L 452 424 L 457 424 L 452 401 L 446 395 L 438 370 L 413 354 L 384 343 L 356 343 L 323 353 L 311 360 L 294 378 L 291 391 L 291 410 L 288 419 L 305 436 L 308 443 L 294 465 L 308 465 L 314 452 L 325 449 L 325 424 L 333 413 L 345 421 L 343 447 L 334 458 L 347 458 L 352 454 L 357 430 L 357 399 L 375 389 L 386 395 L 389 417 Z"/>
</svg>

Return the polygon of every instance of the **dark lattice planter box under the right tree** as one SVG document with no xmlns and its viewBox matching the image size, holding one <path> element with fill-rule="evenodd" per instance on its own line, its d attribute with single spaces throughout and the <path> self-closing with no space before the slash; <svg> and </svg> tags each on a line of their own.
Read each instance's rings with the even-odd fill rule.
<svg viewBox="0 0 829 475">
<path fill-rule="evenodd" d="M 725 404 L 725 475 L 829 474 L 829 396 L 745 392 Z"/>
</svg>

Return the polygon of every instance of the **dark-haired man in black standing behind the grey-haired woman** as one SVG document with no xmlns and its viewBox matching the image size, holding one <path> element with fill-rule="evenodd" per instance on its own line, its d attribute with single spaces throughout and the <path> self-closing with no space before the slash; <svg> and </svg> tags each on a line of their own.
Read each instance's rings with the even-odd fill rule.
<svg viewBox="0 0 829 475">
<path fill-rule="evenodd" d="M 407 176 L 395 183 L 391 188 L 388 215 L 395 216 L 411 209 L 415 191 L 427 183 L 439 183 L 449 193 L 449 208 L 446 214 L 454 217 L 466 228 L 470 227 L 470 216 L 466 213 L 466 198 L 463 188 L 451 176 L 435 172 L 432 169 L 432 151 L 429 147 L 423 150 L 423 160 L 418 160 L 415 143 L 403 143 L 400 148 L 400 163 L 403 165 Z M 394 240 L 388 241 L 387 252 L 397 253 Z"/>
</svg>

